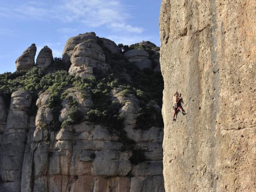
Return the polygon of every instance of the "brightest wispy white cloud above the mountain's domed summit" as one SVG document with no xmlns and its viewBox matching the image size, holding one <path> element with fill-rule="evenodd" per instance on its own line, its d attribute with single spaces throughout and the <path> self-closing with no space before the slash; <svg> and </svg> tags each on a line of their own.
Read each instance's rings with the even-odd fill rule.
<svg viewBox="0 0 256 192">
<path fill-rule="evenodd" d="M 142 27 L 126 23 L 130 15 L 118 0 L 64 0 L 64 21 L 79 21 L 90 27 L 106 26 L 113 31 L 142 33 Z"/>
</svg>

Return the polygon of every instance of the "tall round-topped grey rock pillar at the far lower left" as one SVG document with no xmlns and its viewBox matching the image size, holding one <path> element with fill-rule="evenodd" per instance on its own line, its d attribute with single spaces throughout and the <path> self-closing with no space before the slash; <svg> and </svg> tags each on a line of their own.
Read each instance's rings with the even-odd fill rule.
<svg viewBox="0 0 256 192">
<path fill-rule="evenodd" d="M 29 116 L 31 96 L 27 91 L 11 95 L 11 106 L 4 130 L 0 154 L 0 176 L 3 190 L 20 191 L 21 172 Z"/>
</svg>

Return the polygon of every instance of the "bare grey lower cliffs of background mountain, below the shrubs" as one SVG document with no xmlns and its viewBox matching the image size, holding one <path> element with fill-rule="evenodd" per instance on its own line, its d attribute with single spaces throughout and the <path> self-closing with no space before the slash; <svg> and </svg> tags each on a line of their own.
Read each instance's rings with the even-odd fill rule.
<svg viewBox="0 0 256 192">
<path fill-rule="evenodd" d="M 77 88 L 66 90 L 66 98 L 78 102 L 86 113 L 92 101 Z M 87 96 L 85 96 L 87 95 Z M 39 96 L 36 117 L 27 115 L 31 96 L 27 91 L 12 94 L 7 127 L 1 146 L 0 189 L 21 192 L 163 192 L 162 128 L 133 130 L 138 100 L 113 91 L 113 100 L 125 102 L 120 110 L 125 118 L 129 139 L 135 149 L 144 150 L 146 161 L 133 165 L 133 151 L 126 149 L 117 133 L 83 121 L 58 131 L 50 127 L 53 112 L 50 95 Z M 66 99 L 63 101 L 63 109 Z M 156 106 L 157 107 L 157 106 Z M 65 117 L 63 118 L 65 119 Z"/>
</svg>

